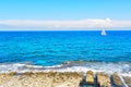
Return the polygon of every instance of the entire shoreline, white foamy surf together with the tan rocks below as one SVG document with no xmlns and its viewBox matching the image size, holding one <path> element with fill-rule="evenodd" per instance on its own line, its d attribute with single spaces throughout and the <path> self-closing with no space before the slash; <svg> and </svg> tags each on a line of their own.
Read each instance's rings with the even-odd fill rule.
<svg viewBox="0 0 131 87">
<path fill-rule="evenodd" d="M 130 87 L 130 65 L 123 62 L 69 62 L 52 66 L 4 63 L 0 64 L 0 87 Z"/>
</svg>

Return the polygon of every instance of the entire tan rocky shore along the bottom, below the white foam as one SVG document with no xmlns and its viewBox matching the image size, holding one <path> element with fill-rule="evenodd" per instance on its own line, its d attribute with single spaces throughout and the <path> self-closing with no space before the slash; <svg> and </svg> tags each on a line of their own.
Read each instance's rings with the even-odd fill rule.
<svg viewBox="0 0 131 87">
<path fill-rule="evenodd" d="M 85 77 L 85 78 L 84 78 Z M 85 84 L 83 85 L 83 82 Z M 131 87 L 131 77 L 114 73 L 81 72 L 25 72 L 1 73 L 0 87 Z"/>
</svg>

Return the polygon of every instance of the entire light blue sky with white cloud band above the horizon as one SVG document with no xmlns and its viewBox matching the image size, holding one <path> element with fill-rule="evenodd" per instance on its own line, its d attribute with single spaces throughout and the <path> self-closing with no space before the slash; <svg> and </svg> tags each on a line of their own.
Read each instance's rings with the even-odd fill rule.
<svg viewBox="0 0 131 87">
<path fill-rule="evenodd" d="M 0 0 L 0 30 L 130 29 L 131 0 Z"/>
</svg>

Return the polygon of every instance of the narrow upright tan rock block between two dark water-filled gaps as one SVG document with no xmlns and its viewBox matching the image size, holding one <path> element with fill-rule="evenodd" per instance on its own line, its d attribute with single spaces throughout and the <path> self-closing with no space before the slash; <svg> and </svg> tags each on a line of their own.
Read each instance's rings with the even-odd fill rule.
<svg viewBox="0 0 131 87">
<path fill-rule="evenodd" d="M 94 73 L 93 73 L 93 71 L 88 71 L 86 73 L 85 82 L 86 82 L 86 84 L 94 85 Z"/>
</svg>

